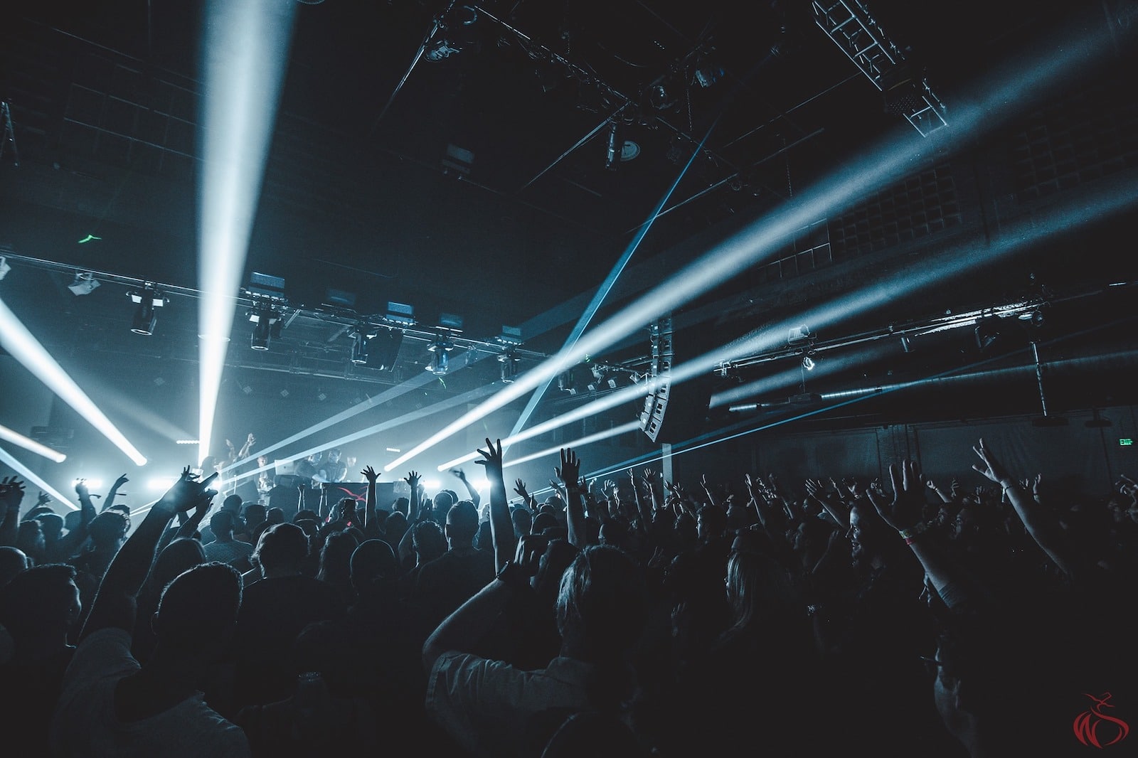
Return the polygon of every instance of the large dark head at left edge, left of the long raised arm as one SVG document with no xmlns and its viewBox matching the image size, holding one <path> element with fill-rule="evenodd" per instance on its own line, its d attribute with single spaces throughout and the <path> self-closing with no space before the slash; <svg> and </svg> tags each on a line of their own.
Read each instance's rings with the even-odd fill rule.
<svg viewBox="0 0 1138 758">
<path fill-rule="evenodd" d="M 30 568 L 0 587 L 0 625 L 17 648 L 27 641 L 63 637 L 82 608 L 75 568 L 66 563 Z"/>
</svg>

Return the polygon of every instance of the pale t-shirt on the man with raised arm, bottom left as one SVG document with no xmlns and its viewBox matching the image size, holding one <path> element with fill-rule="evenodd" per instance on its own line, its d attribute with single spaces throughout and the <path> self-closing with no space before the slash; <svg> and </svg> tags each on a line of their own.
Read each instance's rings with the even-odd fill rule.
<svg viewBox="0 0 1138 758">
<path fill-rule="evenodd" d="M 157 716 L 123 723 L 115 716 L 115 685 L 141 667 L 131 635 L 108 627 L 80 643 L 64 675 L 51 719 L 51 755 L 60 758 L 248 758 L 245 732 L 192 694 Z"/>
</svg>

